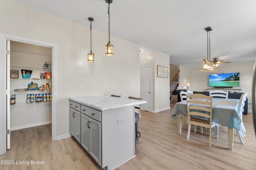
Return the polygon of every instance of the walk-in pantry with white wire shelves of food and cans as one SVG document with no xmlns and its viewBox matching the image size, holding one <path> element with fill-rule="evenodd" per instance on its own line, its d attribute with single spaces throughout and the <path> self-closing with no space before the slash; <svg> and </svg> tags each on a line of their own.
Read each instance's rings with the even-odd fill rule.
<svg viewBox="0 0 256 170">
<path fill-rule="evenodd" d="M 51 63 L 51 47 L 10 41 L 10 131 L 52 123 Z"/>
</svg>

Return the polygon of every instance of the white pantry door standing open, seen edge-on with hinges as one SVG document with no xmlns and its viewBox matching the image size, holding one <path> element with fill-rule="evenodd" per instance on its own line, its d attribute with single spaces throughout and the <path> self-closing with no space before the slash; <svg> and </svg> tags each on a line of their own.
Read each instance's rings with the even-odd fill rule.
<svg viewBox="0 0 256 170">
<path fill-rule="evenodd" d="M 6 41 L 6 149 L 10 149 L 10 41 Z"/>
</svg>

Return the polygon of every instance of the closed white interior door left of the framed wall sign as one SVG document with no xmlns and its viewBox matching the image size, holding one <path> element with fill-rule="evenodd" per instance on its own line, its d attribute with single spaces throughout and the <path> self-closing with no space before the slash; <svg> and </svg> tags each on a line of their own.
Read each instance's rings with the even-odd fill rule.
<svg viewBox="0 0 256 170">
<path fill-rule="evenodd" d="M 140 109 L 151 111 L 151 67 L 140 68 L 140 97 L 147 101 L 146 104 L 140 106 Z"/>
</svg>

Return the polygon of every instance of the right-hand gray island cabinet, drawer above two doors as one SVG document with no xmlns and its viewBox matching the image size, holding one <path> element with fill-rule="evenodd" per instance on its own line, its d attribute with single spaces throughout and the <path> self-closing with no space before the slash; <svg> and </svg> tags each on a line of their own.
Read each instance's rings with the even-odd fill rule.
<svg viewBox="0 0 256 170">
<path fill-rule="evenodd" d="M 101 166 L 101 112 L 86 106 L 81 112 L 81 145 Z"/>
</svg>

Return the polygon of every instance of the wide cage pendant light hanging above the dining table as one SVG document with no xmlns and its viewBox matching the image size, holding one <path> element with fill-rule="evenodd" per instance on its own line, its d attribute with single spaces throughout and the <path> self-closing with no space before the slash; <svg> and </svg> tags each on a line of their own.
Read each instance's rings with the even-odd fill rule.
<svg viewBox="0 0 256 170">
<path fill-rule="evenodd" d="M 204 29 L 207 31 L 207 59 L 202 59 L 201 61 L 199 61 L 197 69 L 206 72 L 218 71 L 220 70 L 220 67 L 211 62 L 210 31 L 212 31 L 212 28 L 207 27 Z"/>
</svg>

